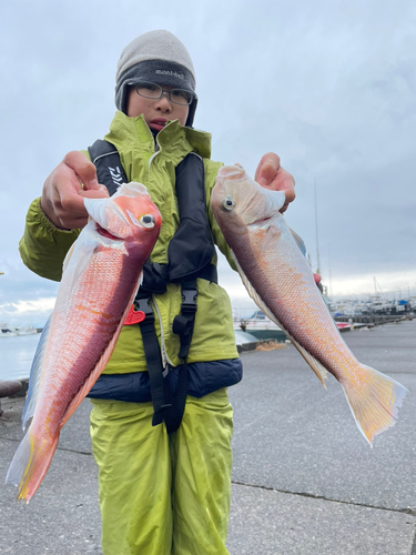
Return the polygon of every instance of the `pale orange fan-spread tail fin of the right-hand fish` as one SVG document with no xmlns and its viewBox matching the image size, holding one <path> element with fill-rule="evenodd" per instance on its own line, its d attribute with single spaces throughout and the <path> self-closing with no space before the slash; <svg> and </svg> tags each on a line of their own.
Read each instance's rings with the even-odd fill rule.
<svg viewBox="0 0 416 555">
<path fill-rule="evenodd" d="M 375 435 L 396 424 L 398 408 L 408 391 L 393 377 L 357 364 L 357 377 L 342 385 L 359 431 L 373 445 Z"/>
</svg>

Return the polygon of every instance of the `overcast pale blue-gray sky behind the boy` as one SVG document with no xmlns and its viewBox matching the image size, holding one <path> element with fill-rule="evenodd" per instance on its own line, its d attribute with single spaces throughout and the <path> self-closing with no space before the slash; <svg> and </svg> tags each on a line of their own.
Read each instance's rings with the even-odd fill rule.
<svg viewBox="0 0 416 555">
<path fill-rule="evenodd" d="M 0 322 L 42 324 L 57 284 L 20 261 L 30 202 L 115 112 L 121 50 L 166 29 L 187 48 L 195 127 L 212 158 L 254 174 L 277 152 L 295 178 L 286 221 L 335 295 L 416 295 L 416 2 L 257 0 L 2 2 Z M 221 263 L 233 302 L 240 278 Z"/>
</svg>

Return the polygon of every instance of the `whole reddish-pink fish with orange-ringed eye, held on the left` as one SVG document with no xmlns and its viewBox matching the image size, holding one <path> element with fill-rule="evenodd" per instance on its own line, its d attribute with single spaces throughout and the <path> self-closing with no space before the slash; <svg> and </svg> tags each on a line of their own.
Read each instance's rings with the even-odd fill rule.
<svg viewBox="0 0 416 555">
<path fill-rule="evenodd" d="M 27 502 L 42 482 L 59 434 L 106 365 L 158 240 L 161 215 L 144 185 L 84 199 L 89 223 L 63 263 L 55 307 L 35 353 L 23 412 L 28 427 L 6 481 Z"/>
</svg>

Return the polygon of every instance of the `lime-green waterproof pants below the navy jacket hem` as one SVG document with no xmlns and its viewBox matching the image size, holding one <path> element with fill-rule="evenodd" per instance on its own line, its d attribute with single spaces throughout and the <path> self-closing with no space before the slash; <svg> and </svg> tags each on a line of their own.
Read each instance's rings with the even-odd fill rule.
<svg viewBox="0 0 416 555">
<path fill-rule="evenodd" d="M 232 407 L 226 389 L 187 396 L 180 428 L 151 403 L 92 400 L 104 555 L 225 555 Z"/>
</svg>

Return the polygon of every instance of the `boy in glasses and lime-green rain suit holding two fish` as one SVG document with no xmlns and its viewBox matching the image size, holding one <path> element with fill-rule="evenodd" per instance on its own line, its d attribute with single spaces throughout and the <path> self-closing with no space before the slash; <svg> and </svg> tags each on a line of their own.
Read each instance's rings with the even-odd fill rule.
<svg viewBox="0 0 416 555">
<path fill-rule="evenodd" d="M 115 104 L 105 140 L 118 151 L 126 180 L 146 185 L 163 225 L 142 287 L 144 304 L 140 304 L 143 299 L 138 301 L 146 311 L 145 321 L 154 319 L 154 324 L 146 331 L 142 324 L 124 325 L 90 393 L 102 548 L 104 555 L 227 554 L 232 408 L 226 387 L 241 380 L 242 367 L 230 300 L 216 283 L 213 245 L 205 252 L 204 242 L 212 236 L 233 265 L 210 209 L 221 163 L 210 160 L 211 135 L 192 128 L 197 97 L 185 47 L 168 31 L 152 31 L 128 44 L 118 64 Z M 63 258 L 87 223 L 83 198 L 108 194 L 89 158 L 87 152 L 67 154 L 47 179 L 40 202 L 29 209 L 20 253 L 44 278 L 61 278 Z M 97 164 L 100 158 L 94 159 Z M 185 160 L 196 164 L 195 183 L 182 176 Z M 196 173 L 202 200 L 190 205 L 186 200 L 197 190 Z M 280 167 L 276 154 L 262 158 L 255 178 L 263 186 L 286 191 L 284 209 L 294 200 L 293 178 Z M 197 220 L 197 233 L 186 232 L 189 220 Z M 201 235 L 206 241 L 197 239 L 201 230 L 207 231 Z M 191 285 L 184 274 L 172 278 L 185 251 L 194 279 Z M 196 269 L 202 252 L 209 259 L 203 271 Z M 183 302 L 190 291 L 191 316 Z M 156 354 L 148 352 L 154 337 Z M 163 390 L 158 392 L 165 395 L 159 407 L 148 372 L 158 364 L 159 377 L 163 375 Z M 158 372 L 152 375 L 158 379 Z M 182 405 L 181 387 L 185 387 Z"/>
</svg>

